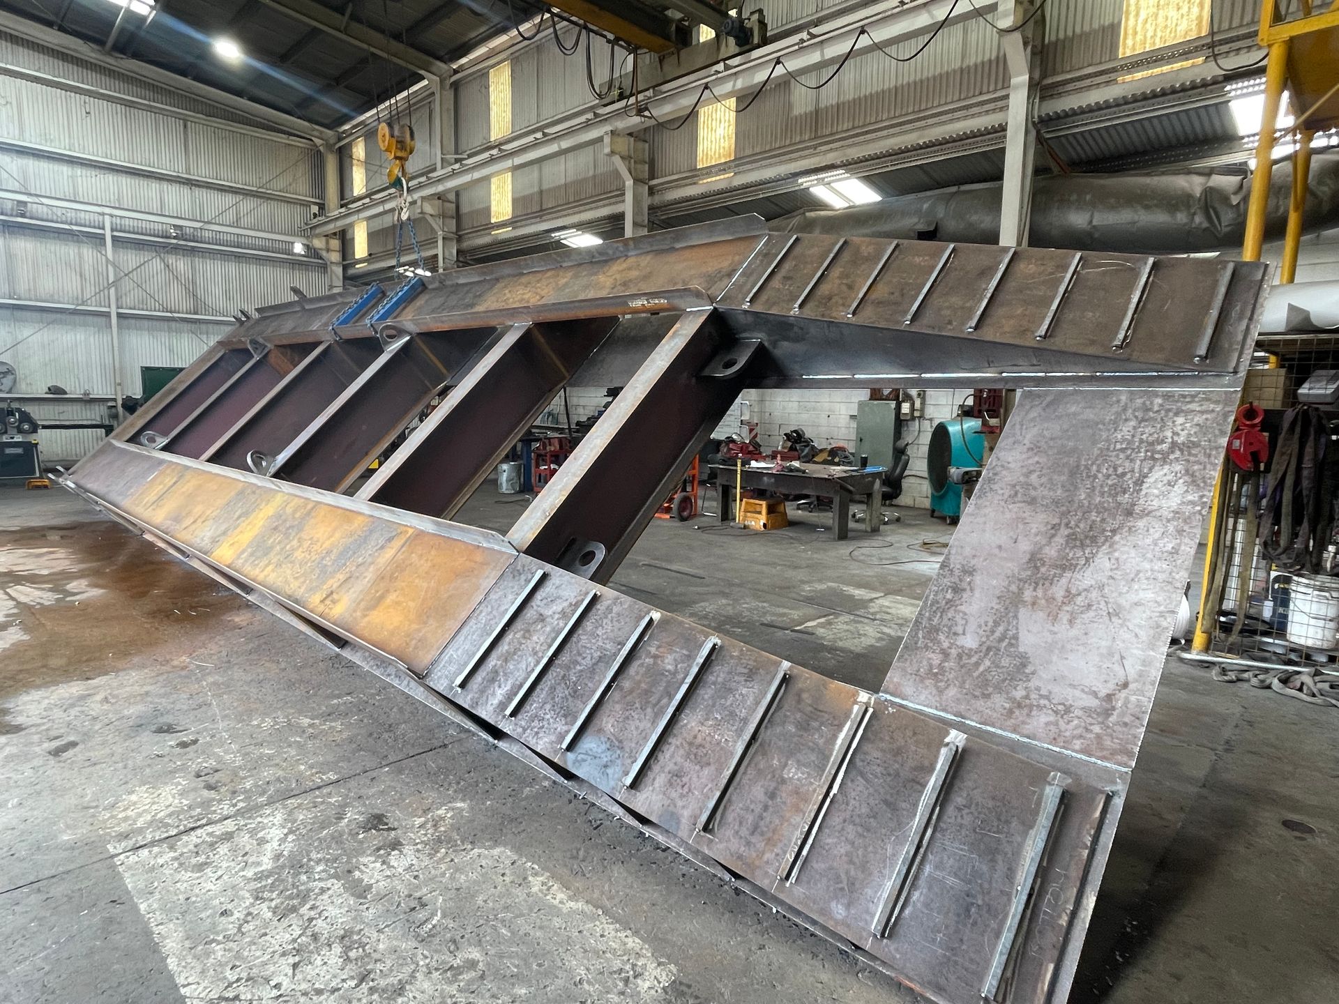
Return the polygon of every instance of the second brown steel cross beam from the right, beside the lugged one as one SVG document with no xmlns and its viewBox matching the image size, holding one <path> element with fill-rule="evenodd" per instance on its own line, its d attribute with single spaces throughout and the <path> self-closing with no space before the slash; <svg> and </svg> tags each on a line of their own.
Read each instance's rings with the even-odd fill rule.
<svg viewBox="0 0 1339 1004">
<path fill-rule="evenodd" d="M 358 491 L 449 518 L 617 324 L 513 324 Z"/>
</svg>

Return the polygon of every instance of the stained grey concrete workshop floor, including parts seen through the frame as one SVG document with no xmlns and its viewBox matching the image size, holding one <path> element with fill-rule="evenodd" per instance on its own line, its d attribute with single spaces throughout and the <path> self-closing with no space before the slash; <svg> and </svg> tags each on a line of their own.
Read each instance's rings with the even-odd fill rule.
<svg viewBox="0 0 1339 1004">
<path fill-rule="evenodd" d="M 615 585 L 877 689 L 947 530 L 799 518 Z M 1074 999 L 1339 1001 L 1336 779 L 1169 660 Z M 0 945 L 5 1004 L 917 999 L 62 491 L 0 491 Z"/>
</svg>

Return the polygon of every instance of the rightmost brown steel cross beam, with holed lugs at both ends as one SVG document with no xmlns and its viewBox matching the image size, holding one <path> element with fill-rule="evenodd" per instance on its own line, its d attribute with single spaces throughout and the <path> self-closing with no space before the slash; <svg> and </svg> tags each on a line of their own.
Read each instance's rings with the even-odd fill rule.
<svg viewBox="0 0 1339 1004">
<path fill-rule="evenodd" d="M 710 309 L 680 316 L 507 537 L 607 582 L 739 396 L 757 343 Z"/>
</svg>

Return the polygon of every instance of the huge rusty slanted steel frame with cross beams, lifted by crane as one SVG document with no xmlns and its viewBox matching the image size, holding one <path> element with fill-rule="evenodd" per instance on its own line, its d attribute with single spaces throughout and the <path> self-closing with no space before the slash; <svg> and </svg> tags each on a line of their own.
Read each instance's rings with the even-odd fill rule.
<svg viewBox="0 0 1339 1004">
<path fill-rule="evenodd" d="M 1264 280 L 661 232 L 262 308 L 66 485 L 928 997 L 1060 1001 Z M 516 526 L 438 518 L 582 373 Z M 603 585 L 742 390 L 876 375 L 1027 388 L 882 693 Z"/>
</svg>

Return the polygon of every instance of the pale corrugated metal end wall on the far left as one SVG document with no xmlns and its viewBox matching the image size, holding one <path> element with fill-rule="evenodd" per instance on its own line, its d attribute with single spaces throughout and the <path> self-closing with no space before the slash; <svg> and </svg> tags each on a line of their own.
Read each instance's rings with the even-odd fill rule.
<svg viewBox="0 0 1339 1004">
<path fill-rule="evenodd" d="M 220 123 L 0 76 L 0 138 L 193 175 L 145 177 L 16 147 L 0 153 L 0 189 L 16 195 L 0 198 L 0 300 L 8 301 L 0 304 L 0 359 L 19 371 L 20 392 L 42 392 L 48 384 L 72 394 L 114 391 L 99 206 L 110 210 L 115 234 L 111 258 L 126 394 L 139 394 L 141 365 L 187 365 L 232 328 L 229 316 L 238 308 L 287 300 L 293 285 L 312 295 L 325 292 L 324 264 L 309 250 L 296 254 L 291 237 L 321 202 L 321 163 L 312 146 L 228 129 L 222 123 L 238 122 L 236 112 L 3 33 L 0 60 Z M 137 212 L 179 222 L 126 216 Z M 74 400 L 33 406 L 39 418 L 87 419 L 90 408 L 99 406 Z M 99 438 L 96 431 L 50 432 L 43 450 L 51 459 L 72 461 Z"/>
</svg>

